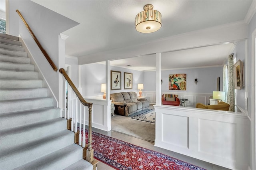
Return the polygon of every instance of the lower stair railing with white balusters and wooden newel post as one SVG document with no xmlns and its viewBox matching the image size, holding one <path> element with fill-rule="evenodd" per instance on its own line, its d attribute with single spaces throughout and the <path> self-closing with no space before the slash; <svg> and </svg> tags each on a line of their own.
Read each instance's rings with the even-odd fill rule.
<svg viewBox="0 0 256 170">
<path fill-rule="evenodd" d="M 68 83 L 68 91 L 70 91 L 72 89 L 72 97 L 70 97 L 68 95 L 68 111 L 66 110 L 67 108 L 65 107 L 65 118 L 66 119 L 70 119 L 70 115 L 71 115 L 71 130 L 74 131 L 75 133 L 77 133 L 77 127 L 78 127 L 78 123 L 79 123 L 79 139 L 78 139 L 78 144 L 81 145 L 82 147 L 86 146 L 86 142 L 85 142 L 85 119 L 86 119 L 86 111 L 85 111 L 85 107 L 88 107 L 89 109 L 89 118 L 88 118 L 88 148 L 86 150 L 86 160 L 88 162 L 92 162 L 94 157 L 93 157 L 93 149 L 92 149 L 92 103 L 88 103 L 84 100 L 84 98 L 82 97 L 82 95 L 80 94 L 80 92 L 78 91 L 78 89 L 76 88 L 76 86 L 74 85 L 74 83 L 71 81 L 71 79 L 68 77 L 67 73 L 65 72 L 65 69 L 61 68 L 60 73 L 65 77 L 67 83 Z M 76 94 L 76 106 L 75 106 L 75 113 L 74 113 L 74 93 Z M 66 93 L 65 93 L 66 95 Z M 65 96 L 66 98 L 66 96 Z M 71 98 L 71 107 L 70 107 L 70 98 Z M 78 121 L 78 99 L 80 100 L 80 117 L 79 117 L 79 121 Z M 83 105 L 83 109 L 82 109 L 82 105 Z M 71 109 L 71 113 L 70 113 L 70 109 Z M 82 114 L 83 111 L 83 114 Z M 67 114 L 66 114 L 67 113 Z M 84 121 L 83 121 L 83 136 L 82 136 L 82 115 L 84 117 Z"/>
</svg>

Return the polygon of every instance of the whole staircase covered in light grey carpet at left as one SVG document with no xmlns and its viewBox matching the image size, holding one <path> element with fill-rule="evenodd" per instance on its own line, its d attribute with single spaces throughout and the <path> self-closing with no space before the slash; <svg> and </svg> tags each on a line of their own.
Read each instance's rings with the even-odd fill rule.
<svg viewBox="0 0 256 170">
<path fill-rule="evenodd" d="M 0 34 L 0 169 L 92 170 L 18 37 Z"/>
</svg>

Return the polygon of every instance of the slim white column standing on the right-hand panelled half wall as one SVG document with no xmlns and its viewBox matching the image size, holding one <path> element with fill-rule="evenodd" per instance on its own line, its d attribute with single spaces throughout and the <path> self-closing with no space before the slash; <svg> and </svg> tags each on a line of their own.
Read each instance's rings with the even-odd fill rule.
<svg viewBox="0 0 256 170">
<path fill-rule="evenodd" d="M 161 53 L 156 53 L 156 105 L 161 105 Z"/>
</svg>

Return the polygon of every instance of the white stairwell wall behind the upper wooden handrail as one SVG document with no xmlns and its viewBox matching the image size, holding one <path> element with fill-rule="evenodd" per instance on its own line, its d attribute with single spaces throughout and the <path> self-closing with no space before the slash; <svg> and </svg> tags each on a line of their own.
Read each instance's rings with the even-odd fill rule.
<svg viewBox="0 0 256 170">
<path fill-rule="evenodd" d="M 46 81 L 52 89 L 54 96 L 59 97 L 58 71 L 54 72 L 32 36 L 24 26 L 16 10 L 19 10 L 26 22 L 34 32 L 42 47 L 46 50 L 57 68 L 59 67 L 59 34 L 76 25 L 70 20 L 48 8 L 40 6 L 30 0 L 9 0 L 9 34 L 21 36 L 28 50 L 34 57 Z M 64 50 L 64 49 L 63 49 Z M 64 60 L 64 56 L 62 56 Z"/>
</svg>

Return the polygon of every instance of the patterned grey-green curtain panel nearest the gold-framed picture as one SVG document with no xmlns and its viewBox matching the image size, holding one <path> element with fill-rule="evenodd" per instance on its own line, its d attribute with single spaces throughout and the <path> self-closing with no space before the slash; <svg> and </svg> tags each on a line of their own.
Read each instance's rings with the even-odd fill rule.
<svg viewBox="0 0 256 170">
<path fill-rule="evenodd" d="M 230 105 L 228 111 L 234 111 L 235 93 L 234 93 L 234 76 L 233 76 L 233 55 L 228 55 L 228 93 L 227 103 Z"/>
</svg>

